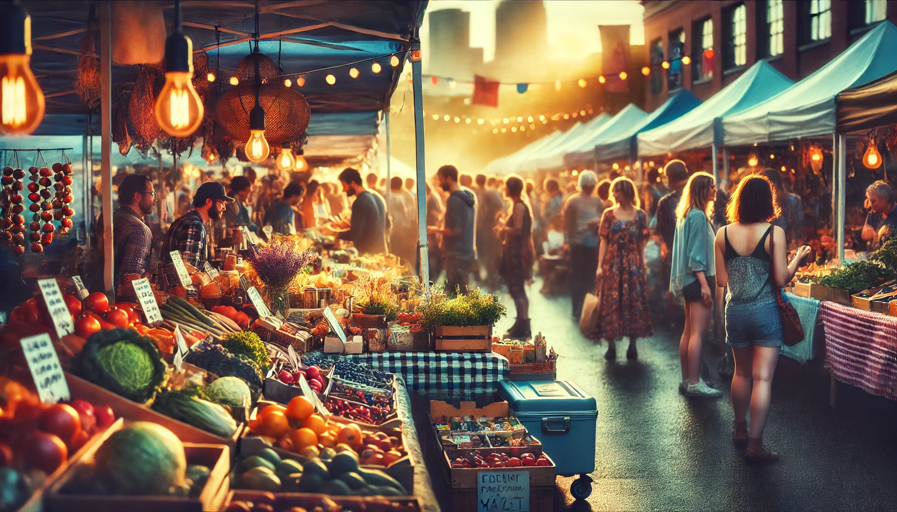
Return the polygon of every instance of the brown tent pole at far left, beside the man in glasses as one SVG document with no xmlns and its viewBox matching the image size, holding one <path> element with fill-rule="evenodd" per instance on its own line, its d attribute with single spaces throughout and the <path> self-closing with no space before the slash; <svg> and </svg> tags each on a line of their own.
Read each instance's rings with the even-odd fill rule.
<svg viewBox="0 0 897 512">
<path fill-rule="evenodd" d="M 106 294 L 115 298 L 115 257 L 112 240 L 112 58 L 111 4 L 100 4 L 100 122 L 102 125 L 103 282 Z"/>
</svg>

